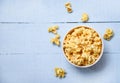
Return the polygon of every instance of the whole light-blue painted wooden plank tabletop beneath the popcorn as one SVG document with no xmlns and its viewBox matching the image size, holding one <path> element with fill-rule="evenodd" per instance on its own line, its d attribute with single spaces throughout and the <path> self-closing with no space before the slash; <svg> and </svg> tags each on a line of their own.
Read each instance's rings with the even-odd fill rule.
<svg viewBox="0 0 120 83">
<path fill-rule="evenodd" d="M 120 83 L 120 0 L 0 0 L 0 83 Z M 82 13 L 90 20 L 81 23 Z M 61 41 L 78 25 L 106 28 L 115 35 L 104 40 L 104 54 L 94 66 L 79 69 L 64 58 L 61 47 L 50 43 L 49 26 L 59 25 Z M 66 70 L 66 78 L 54 76 L 54 68 Z"/>
</svg>

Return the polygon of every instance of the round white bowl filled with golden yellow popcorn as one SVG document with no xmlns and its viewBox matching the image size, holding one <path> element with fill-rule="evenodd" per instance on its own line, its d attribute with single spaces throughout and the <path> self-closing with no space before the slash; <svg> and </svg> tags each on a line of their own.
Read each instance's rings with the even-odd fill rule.
<svg viewBox="0 0 120 83">
<path fill-rule="evenodd" d="M 96 30 L 87 26 L 77 26 L 65 35 L 62 49 L 70 64 L 87 68 L 100 60 L 104 45 Z"/>
</svg>

